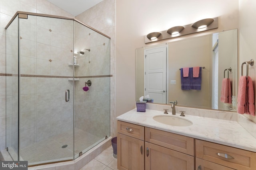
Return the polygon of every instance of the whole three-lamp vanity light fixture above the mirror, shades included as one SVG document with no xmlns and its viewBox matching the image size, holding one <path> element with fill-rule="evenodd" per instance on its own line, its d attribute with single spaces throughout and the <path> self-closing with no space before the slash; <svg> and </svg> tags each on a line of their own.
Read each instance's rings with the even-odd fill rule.
<svg viewBox="0 0 256 170">
<path fill-rule="evenodd" d="M 164 39 L 176 38 L 176 37 L 180 37 L 180 36 L 188 35 L 192 33 L 199 33 L 201 31 L 207 31 L 215 28 L 218 28 L 218 17 L 206 18 L 204 20 L 200 20 L 188 25 L 175 26 L 165 31 L 149 33 L 148 35 L 144 36 L 144 40 L 145 40 L 145 44 L 152 43 L 152 42 L 161 41 Z"/>
</svg>

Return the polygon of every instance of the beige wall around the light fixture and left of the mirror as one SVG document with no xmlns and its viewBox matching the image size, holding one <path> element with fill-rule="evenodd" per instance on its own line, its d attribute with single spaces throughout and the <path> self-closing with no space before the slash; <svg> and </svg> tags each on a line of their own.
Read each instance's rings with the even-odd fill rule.
<svg viewBox="0 0 256 170">
<path fill-rule="evenodd" d="M 207 33 L 238 28 L 238 0 L 116 2 L 116 116 L 135 108 L 135 49 L 172 41 L 145 45 L 144 35 L 214 17 L 219 17 L 219 27 Z"/>
</svg>

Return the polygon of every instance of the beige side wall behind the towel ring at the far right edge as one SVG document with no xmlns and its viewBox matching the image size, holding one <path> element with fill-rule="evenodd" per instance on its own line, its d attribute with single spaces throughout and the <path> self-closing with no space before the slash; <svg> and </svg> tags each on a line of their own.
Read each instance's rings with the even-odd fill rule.
<svg viewBox="0 0 256 170">
<path fill-rule="evenodd" d="M 256 1 L 254 0 L 239 0 L 239 60 L 238 60 L 238 77 L 241 76 L 241 64 L 250 59 L 256 60 Z M 244 65 L 244 75 L 246 75 L 246 65 Z M 252 78 L 254 85 L 255 99 L 255 79 L 256 79 L 256 64 L 249 65 L 249 76 Z M 256 117 L 246 115 L 249 119 L 256 123 Z"/>
</svg>

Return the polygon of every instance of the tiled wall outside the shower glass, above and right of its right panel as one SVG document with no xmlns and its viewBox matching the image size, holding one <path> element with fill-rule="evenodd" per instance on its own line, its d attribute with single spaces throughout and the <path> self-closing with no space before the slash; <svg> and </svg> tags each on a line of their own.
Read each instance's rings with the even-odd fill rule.
<svg viewBox="0 0 256 170">
<path fill-rule="evenodd" d="M 76 16 L 110 39 L 110 135 L 116 136 L 116 0 L 103 0 Z"/>
</svg>

